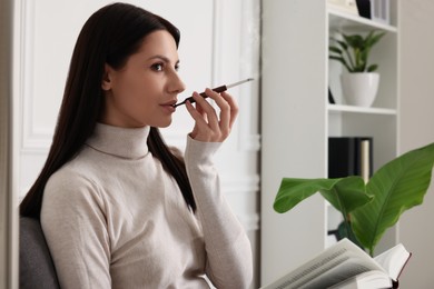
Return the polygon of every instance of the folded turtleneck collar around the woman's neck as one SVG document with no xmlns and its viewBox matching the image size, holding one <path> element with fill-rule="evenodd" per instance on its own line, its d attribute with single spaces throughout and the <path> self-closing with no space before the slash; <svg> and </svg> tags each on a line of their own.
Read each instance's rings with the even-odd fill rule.
<svg viewBox="0 0 434 289">
<path fill-rule="evenodd" d="M 125 159 L 139 159 L 148 153 L 147 140 L 150 127 L 119 128 L 97 123 L 86 143 L 103 153 Z"/>
</svg>

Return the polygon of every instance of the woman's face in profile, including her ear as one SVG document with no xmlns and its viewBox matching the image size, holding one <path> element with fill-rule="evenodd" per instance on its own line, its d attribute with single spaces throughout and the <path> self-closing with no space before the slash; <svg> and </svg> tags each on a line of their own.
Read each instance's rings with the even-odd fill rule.
<svg viewBox="0 0 434 289">
<path fill-rule="evenodd" d="M 121 69 L 106 64 L 100 121 L 125 128 L 168 127 L 175 112 L 172 104 L 185 90 L 178 64 L 176 42 L 165 30 L 148 34 Z"/>
</svg>

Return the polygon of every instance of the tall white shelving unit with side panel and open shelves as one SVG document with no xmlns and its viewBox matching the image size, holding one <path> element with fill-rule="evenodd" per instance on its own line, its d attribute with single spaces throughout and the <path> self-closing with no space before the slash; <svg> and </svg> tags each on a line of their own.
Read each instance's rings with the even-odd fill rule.
<svg viewBox="0 0 434 289">
<path fill-rule="evenodd" d="M 329 246 L 327 231 L 339 221 L 320 196 L 275 212 L 282 178 L 327 177 L 328 137 L 373 137 L 374 170 L 397 155 L 397 8 L 391 8 L 388 26 L 328 9 L 325 2 L 263 2 L 262 285 Z M 379 66 L 378 94 L 371 108 L 347 106 L 342 67 L 328 60 L 328 39 L 337 31 L 372 29 L 387 32 L 372 50 L 372 62 Z M 336 104 L 328 103 L 328 88 Z M 377 250 L 395 242 L 393 228 Z"/>
</svg>

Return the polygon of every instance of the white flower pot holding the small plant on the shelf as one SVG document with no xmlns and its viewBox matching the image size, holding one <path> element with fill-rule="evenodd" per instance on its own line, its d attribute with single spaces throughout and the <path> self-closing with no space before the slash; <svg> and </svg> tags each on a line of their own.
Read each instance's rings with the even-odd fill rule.
<svg viewBox="0 0 434 289">
<path fill-rule="evenodd" d="M 379 74 L 353 72 L 341 74 L 342 92 L 347 104 L 371 107 L 378 91 Z"/>
</svg>

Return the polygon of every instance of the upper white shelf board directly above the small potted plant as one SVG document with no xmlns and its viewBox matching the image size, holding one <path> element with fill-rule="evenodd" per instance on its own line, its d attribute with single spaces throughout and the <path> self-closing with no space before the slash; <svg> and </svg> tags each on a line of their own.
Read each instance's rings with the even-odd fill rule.
<svg viewBox="0 0 434 289">
<path fill-rule="evenodd" d="M 373 21 L 359 16 L 345 13 L 333 8 L 327 8 L 329 27 L 333 30 L 352 29 L 352 30 L 366 30 L 379 29 L 388 32 L 397 32 L 397 28 L 391 24 Z"/>
</svg>

